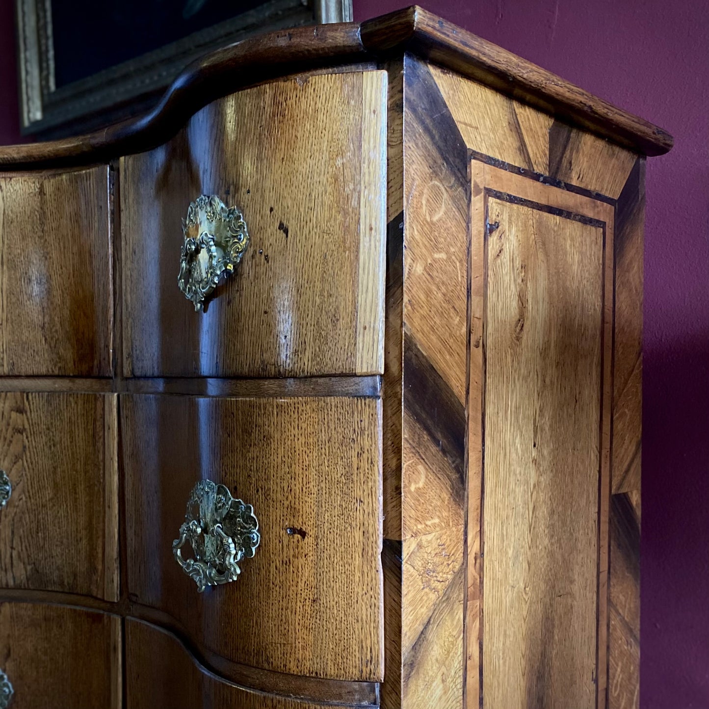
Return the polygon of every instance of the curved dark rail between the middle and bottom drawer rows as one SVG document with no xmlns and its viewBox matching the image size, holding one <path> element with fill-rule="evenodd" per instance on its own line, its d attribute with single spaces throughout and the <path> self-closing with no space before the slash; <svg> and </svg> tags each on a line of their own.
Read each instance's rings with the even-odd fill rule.
<svg viewBox="0 0 709 709">
<path fill-rule="evenodd" d="M 145 623 L 174 637 L 201 671 L 219 682 L 245 691 L 323 706 L 351 706 L 361 709 L 379 706 L 379 683 L 299 676 L 229 661 L 189 641 L 184 628 L 168 613 L 140 603 L 130 603 L 125 599 L 111 603 L 77 593 L 33 591 L 26 588 L 0 588 L 0 603 L 62 605 L 66 608 L 91 610 Z"/>
</svg>

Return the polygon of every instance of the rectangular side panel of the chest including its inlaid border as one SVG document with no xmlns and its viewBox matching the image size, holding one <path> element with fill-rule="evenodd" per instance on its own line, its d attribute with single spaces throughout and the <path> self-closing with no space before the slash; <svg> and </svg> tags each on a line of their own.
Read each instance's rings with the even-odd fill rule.
<svg viewBox="0 0 709 709">
<path fill-rule="evenodd" d="M 471 162 L 471 194 L 468 705 L 474 706 L 481 701 L 483 706 L 491 708 L 498 705 L 527 707 L 525 702 L 545 707 L 605 706 L 608 653 L 607 623 L 603 619 L 608 618 L 605 599 L 608 588 L 614 208 L 608 203 L 540 184 L 478 160 Z M 562 265 L 554 259 L 566 259 L 568 263 Z M 581 272 L 583 277 L 579 277 Z M 593 290 L 589 283 L 591 272 L 596 276 L 595 291 L 586 297 L 574 289 Z M 494 297 L 491 279 L 494 277 L 498 279 L 498 289 L 496 300 L 491 301 Z M 549 279 L 554 283 L 550 284 Z M 564 279 L 573 279 L 573 282 Z M 553 288 L 547 291 L 545 286 Z M 493 322 L 490 320 L 491 305 L 497 316 Z M 593 308 L 598 314 L 596 320 L 590 315 Z M 564 333 L 574 339 L 571 330 L 579 327 L 595 328 L 593 344 L 586 342 L 585 349 L 578 344 L 567 347 Z M 583 339 L 578 337 L 579 341 Z M 522 356 L 525 347 L 531 359 L 518 361 L 515 357 Z M 556 357 L 550 347 L 559 347 L 560 352 L 564 351 L 564 357 Z M 571 352 L 573 354 L 569 354 Z M 584 357 L 588 364 L 591 352 L 596 352 L 599 358 L 595 372 L 583 364 Z M 492 369 L 491 357 L 496 357 Z M 574 387 L 567 391 L 568 387 L 564 385 L 559 389 L 562 382 L 574 381 L 573 376 L 550 371 L 527 377 L 527 373 L 545 366 L 554 371 L 557 367 L 581 367 L 584 376 L 595 376 L 593 382 L 584 380 L 583 384 L 577 377 L 574 384 L 574 387 L 583 386 L 588 401 L 583 405 L 581 398 L 577 401 Z M 573 398 L 569 398 L 571 395 Z M 567 397 L 566 405 L 563 404 L 564 396 Z M 552 400 L 556 402 L 554 406 L 549 405 Z M 545 401 L 547 406 L 542 406 Z M 549 437 L 542 450 L 545 425 L 556 426 L 559 422 L 554 423 L 554 416 L 561 416 L 559 412 L 564 406 L 568 408 L 569 401 L 576 411 L 575 418 L 567 416 L 562 423 L 583 425 L 584 437 L 547 428 Z M 537 411 L 538 415 L 529 411 Z M 533 439 L 528 446 L 525 445 L 525 432 Z M 595 468 L 590 464 L 582 474 L 579 467 L 569 466 L 573 475 L 565 466 L 555 468 L 555 461 L 580 454 L 578 440 L 586 442 L 587 457 L 595 455 Z M 542 452 L 551 456 L 546 463 Z M 491 459 L 496 462 L 493 473 L 501 475 L 492 489 L 488 478 Z M 507 463 L 503 463 L 503 459 Z M 533 470 L 540 472 L 532 476 Z M 508 480 L 510 476 L 513 480 Z M 557 476 L 561 476 L 565 485 L 574 485 L 581 476 L 585 498 L 579 490 L 574 490 L 573 494 L 563 493 L 563 484 L 557 485 Z M 576 514 L 570 507 L 582 498 L 585 500 L 584 513 Z M 522 518 L 519 515 L 527 516 Z M 581 520 L 585 520 L 585 533 L 579 527 Z M 558 533 L 552 532 L 554 524 L 562 527 L 568 524 L 573 529 L 562 532 L 559 527 Z M 492 549 L 489 544 L 491 534 Z M 497 552 L 494 551 L 495 544 Z M 533 552 L 535 545 L 542 546 Z M 554 562 L 557 554 L 566 559 L 563 564 L 559 559 Z M 582 569 L 586 569 L 585 581 L 577 579 L 578 584 L 569 592 L 571 596 L 559 591 L 562 595 L 557 600 L 557 594 L 549 592 L 549 598 L 544 601 L 541 590 L 544 584 L 563 585 L 559 573 L 562 566 L 565 573 L 571 574 L 571 579 L 578 577 L 571 569 L 581 557 L 584 559 Z M 549 570 L 548 574 L 545 568 Z M 525 579 L 518 579 L 520 574 Z M 515 589 L 518 589 L 517 595 Z M 545 602 L 550 603 L 548 611 L 543 608 Z M 527 630 L 523 630 L 525 625 L 519 620 L 513 623 L 508 620 L 516 617 L 515 603 L 519 604 L 518 610 L 527 608 L 525 617 L 527 623 L 532 624 L 526 626 Z M 572 626 L 575 621 L 571 619 L 560 620 L 564 613 L 580 613 L 584 605 L 585 630 L 579 623 Z M 537 620 L 545 621 L 542 625 L 534 625 L 535 613 Z M 505 620 L 501 621 L 502 618 Z M 571 635 L 564 637 L 564 627 L 573 627 Z M 525 634 L 525 642 L 521 642 L 523 636 L 520 633 Z M 499 642 L 497 649 L 494 647 L 496 640 Z M 585 683 L 584 688 L 574 688 L 574 680 L 553 676 L 554 668 L 562 674 L 571 671 L 569 666 L 574 652 L 568 649 L 564 652 L 563 647 L 557 649 L 564 642 L 570 642 L 574 652 L 582 649 L 586 654 L 588 671 L 579 675 Z M 513 671 L 515 663 L 520 663 L 516 672 Z M 499 679 L 501 676 L 506 677 L 505 682 Z M 520 681 L 520 677 L 525 677 L 525 681 Z M 595 683 L 598 685 L 597 697 Z M 569 698 L 569 693 L 577 689 L 581 695 L 587 692 L 586 703 L 579 696 Z"/>
</svg>

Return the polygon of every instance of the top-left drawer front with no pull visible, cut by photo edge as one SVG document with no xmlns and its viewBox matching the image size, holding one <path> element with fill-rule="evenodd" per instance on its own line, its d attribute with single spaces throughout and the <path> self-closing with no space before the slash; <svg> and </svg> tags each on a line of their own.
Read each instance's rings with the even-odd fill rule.
<svg viewBox="0 0 709 709">
<path fill-rule="evenodd" d="M 0 375 L 111 375 L 108 167 L 0 174 Z"/>
</svg>

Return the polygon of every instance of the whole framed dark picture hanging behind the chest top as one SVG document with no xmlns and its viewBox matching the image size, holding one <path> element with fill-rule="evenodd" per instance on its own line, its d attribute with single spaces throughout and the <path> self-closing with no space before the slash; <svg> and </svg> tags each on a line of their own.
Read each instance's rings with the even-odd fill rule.
<svg viewBox="0 0 709 709">
<path fill-rule="evenodd" d="M 60 138 L 149 110 L 197 57 L 352 20 L 352 0 L 16 0 L 21 130 Z"/>
</svg>

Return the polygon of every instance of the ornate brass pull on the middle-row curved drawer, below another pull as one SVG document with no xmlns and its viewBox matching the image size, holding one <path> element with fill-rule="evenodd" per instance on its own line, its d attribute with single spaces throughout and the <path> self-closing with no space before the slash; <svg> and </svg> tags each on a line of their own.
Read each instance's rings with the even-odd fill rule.
<svg viewBox="0 0 709 709">
<path fill-rule="evenodd" d="M 241 573 L 238 562 L 252 557 L 260 541 L 254 508 L 235 500 L 225 486 L 201 480 L 187 501 L 172 552 L 201 593 L 207 586 L 236 581 Z M 192 547 L 194 559 L 182 558 L 185 542 Z"/>
</svg>

